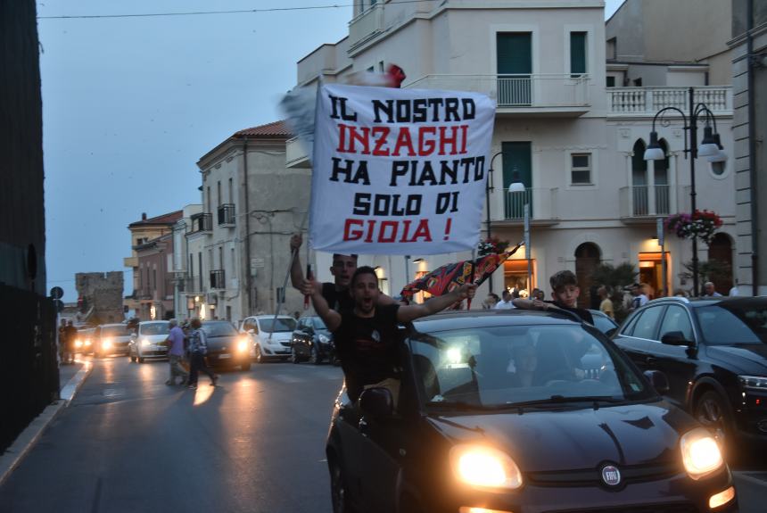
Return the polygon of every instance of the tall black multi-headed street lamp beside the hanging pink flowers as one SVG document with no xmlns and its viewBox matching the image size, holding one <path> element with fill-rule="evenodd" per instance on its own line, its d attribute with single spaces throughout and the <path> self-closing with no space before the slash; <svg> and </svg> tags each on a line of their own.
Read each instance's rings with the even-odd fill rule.
<svg viewBox="0 0 767 513">
<path fill-rule="evenodd" d="M 682 120 L 684 121 L 684 129 L 689 132 L 689 145 L 688 138 L 685 137 L 684 141 L 684 156 L 687 158 L 689 153 L 689 183 L 690 183 L 690 209 L 694 214 L 696 211 L 696 192 L 695 192 L 695 160 L 697 157 L 707 157 L 710 162 L 722 162 L 727 160 L 727 153 L 723 151 L 722 143 L 720 142 L 719 134 L 716 130 L 716 118 L 713 116 L 713 112 L 705 105 L 705 103 L 695 103 L 695 89 L 689 88 L 689 117 L 685 116 L 684 112 L 676 107 L 665 107 L 656 112 L 653 118 L 653 129 L 650 132 L 650 144 L 647 145 L 644 158 L 646 161 L 662 161 L 665 158 L 663 148 L 658 143 L 658 133 L 656 132 L 656 120 L 663 118 L 665 112 L 675 111 L 679 112 Z M 697 120 L 703 116 L 705 118 L 705 127 L 703 129 L 703 140 L 700 145 L 697 145 Z M 711 128 L 711 122 L 713 122 L 713 129 Z M 661 124 L 667 126 L 670 123 L 668 120 L 662 120 Z M 697 296 L 697 236 L 692 237 L 692 283 L 693 293 Z"/>
</svg>

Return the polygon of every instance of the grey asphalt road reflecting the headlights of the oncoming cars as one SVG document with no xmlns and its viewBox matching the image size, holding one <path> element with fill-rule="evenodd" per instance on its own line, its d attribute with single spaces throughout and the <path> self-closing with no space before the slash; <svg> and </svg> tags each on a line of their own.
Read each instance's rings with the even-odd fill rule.
<svg viewBox="0 0 767 513">
<path fill-rule="evenodd" d="M 340 368 L 290 363 L 164 385 L 168 364 L 95 360 L 0 487 L 2 513 L 331 511 L 324 454 Z M 741 513 L 767 484 L 735 472 Z"/>
</svg>

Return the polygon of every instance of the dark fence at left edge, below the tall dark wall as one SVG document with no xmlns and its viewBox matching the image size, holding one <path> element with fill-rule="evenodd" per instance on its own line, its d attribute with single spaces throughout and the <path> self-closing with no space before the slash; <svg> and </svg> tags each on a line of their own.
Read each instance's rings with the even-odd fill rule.
<svg viewBox="0 0 767 513">
<path fill-rule="evenodd" d="M 54 302 L 0 285 L 0 453 L 59 397 Z"/>
</svg>

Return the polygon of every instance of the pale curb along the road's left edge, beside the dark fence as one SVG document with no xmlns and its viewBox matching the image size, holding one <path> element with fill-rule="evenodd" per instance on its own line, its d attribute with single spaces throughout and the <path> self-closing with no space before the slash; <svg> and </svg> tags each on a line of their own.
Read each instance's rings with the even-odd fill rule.
<svg viewBox="0 0 767 513">
<path fill-rule="evenodd" d="M 24 431 L 16 437 L 11 447 L 0 456 L 0 486 L 5 479 L 11 475 L 12 471 L 19 466 L 21 460 L 27 455 L 30 449 L 35 446 L 40 439 L 45 428 L 54 421 L 54 418 L 67 406 L 70 405 L 75 394 L 85 383 L 87 376 L 90 376 L 93 370 L 93 363 L 86 361 L 83 368 L 79 369 L 77 374 L 70 378 L 70 381 L 62 387 L 61 399 L 54 404 L 45 407 L 36 418 L 34 418 Z"/>
</svg>

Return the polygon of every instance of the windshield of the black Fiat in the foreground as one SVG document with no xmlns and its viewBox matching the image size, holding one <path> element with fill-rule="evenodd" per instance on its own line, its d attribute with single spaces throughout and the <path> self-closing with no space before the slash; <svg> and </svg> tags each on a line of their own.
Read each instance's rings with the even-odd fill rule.
<svg viewBox="0 0 767 513">
<path fill-rule="evenodd" d="M 427 408 L 510 408 L 656 397 L 582 326 L 477 327 L 410 338 Z M 601 335 L 600 335 L 601 336 Z"/>
</svg>

